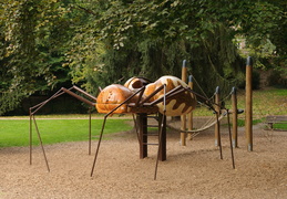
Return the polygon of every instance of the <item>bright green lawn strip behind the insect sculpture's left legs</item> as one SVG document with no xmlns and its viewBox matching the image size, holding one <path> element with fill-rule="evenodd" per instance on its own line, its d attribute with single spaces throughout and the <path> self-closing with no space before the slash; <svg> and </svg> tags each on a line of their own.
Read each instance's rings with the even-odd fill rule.
<svg viewBox="0 0 287 199">
<path fill-rule="evenodd" d="M 126 119 L 109 119 L 104 134 L 131 130 L 132 126 Z M 103 119 L 92 119 L 92 138 L 95 139 L 101 132 Z M 88 140 L 89 119 L 37 119 L 39 132 L 44 145 Z M 0 119 L 0 147 L 28 146 L 29 119 Z M 33 145 L 39 145 L 39 139 L 33 125 Z"/>
</svg>

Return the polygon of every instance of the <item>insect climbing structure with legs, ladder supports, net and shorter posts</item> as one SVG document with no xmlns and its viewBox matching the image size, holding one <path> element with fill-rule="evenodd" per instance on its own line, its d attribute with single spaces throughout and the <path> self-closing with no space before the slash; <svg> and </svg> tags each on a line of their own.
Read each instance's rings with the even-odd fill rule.
<svg viewBox="0 0 287 199">
<path fill-rule="evenodd" d="M 172 123 L 166 122 L 166 116 L 181 116 L 181 127 L 177 129 L 181 133 L 181 144 L 185 145 L 186 134 L 188 137 L 196 136 L 199 132 L 215 126 L 215 145 L 219 148 L 221 159 L 222 143 L 219 132 L 219 121 L 227 116 L 229 144 L 232 153 L 233 168 L 235 168 L 233 147 L 237 146 L 237 114 L 242 113 L 237 109 L 236 102 L 236 90 L 233 88 L 230 95 L 233 98 L 233 109 L 226 108 L 219 101 L 219 88 L 216 88 L 215 100 L 211 100 L 204 95 L 201 95 L 193 91 L 193 76 L 188 77 L 188 84 L 185 82 L 187 78 L 186 73 L 186 61 L 183 62 L 182 80 L 175 76 L 162 76 L 155 82 L 151 82 L 145 77 L 132 77 L 125 82 L 124 85 L 112 84 L 101 90 L 98 97 L 89 94 L 78 86 L 70 88 L 62 87 L 54 95 L 47 101 L 30 107 L 30 165 L 32 165 L 32 126 L 37 132 L 40 146 L 44 156 L 48 171 L 50 171 L 48 158 L 42 144 L 40 130 L 37 125 L 34 115 L 41 109 L 47 103 L 59 97 L 62 94 L 69 94 L 79 101 L 88 104 L 91 107 L 95 107 L 98 113 L 105 114 L 103 117 L 103 124 L 98 140 L 96 151 L 94 154 L 94 160 L 92 163 L 92 169 L 90 176 L 93 176 L 100 146 L 103 138 L 105 123 L 109 116 L 113 114 L 132 114 L 135 125 L 135 132 L 140 144 L 140 158 L 147 157 L 147 146 L 155 145 L 147 143 L 147 118 L 153 117 L 157 122 L 158 127 L 158 150 L 155 164 L 154 179 L 157 176 L 158 161 L 166 160 L 166 128 L 174 128 Z M 247 60 L 247 65 L 250 66 L 250 59 Z M 80 94 L 78 94 L 80 93 Z M 214 113 L 215 119 L 205 123 L 202 127 L 194 129 L 192 126 L 192 113 L 195 107 L 199 104 L 208 107 Z M 233 114 L 233 135 L 230 130 L 230 118 L 229 114 Z M 187 118 L 187 119 L 186 119 Z M 91 155 L 91 108 L 89 117 L 89 155 Z M 186 126 L 188 125 L 188 127 Z"/>
</svg>

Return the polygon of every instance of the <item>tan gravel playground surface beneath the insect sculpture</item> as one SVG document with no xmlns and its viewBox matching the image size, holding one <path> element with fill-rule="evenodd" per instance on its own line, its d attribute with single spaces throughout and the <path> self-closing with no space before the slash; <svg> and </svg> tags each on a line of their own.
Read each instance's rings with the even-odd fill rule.
<svg viewBox="0 0 287 199">
<path fill-rule="evenodd" d="M 287 132 L 254 129 L 254 151 L 246 150 L 244 129 L 232 167 L 229 139 L 223 129 L 223 160 L 214 146 L 213 130 L 202 133 L 187 146 L 167 132 L 167 160 L 158 163 L 154 180 L 156 146 L 139 158 L 136 135 L 131 132 L 104 136 L 93 177 L 88 142 L 0 148 L 0 198 L 287 198 Z"/>
</svg>

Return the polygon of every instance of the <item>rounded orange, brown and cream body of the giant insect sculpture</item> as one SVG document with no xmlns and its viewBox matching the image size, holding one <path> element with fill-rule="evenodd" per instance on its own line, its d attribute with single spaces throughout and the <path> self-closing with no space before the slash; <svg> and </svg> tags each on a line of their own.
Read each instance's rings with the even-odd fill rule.
<svg viewBox="0 0 287 199">
<path fill-rule="evenodd" d="M 176 116 L 195 108 L 195 95 L 188 92 L 187 85 L 180 78 L 162 76 L 154 83 L 139 87 L 137 85 L 142 85 L 142 78 L 136 77 L 132 90 L 120 84 L 112 84 L 102 90 L 96 98 L 98 112 L 110 113 L 114 109 L 113 113 L 121 114 L 158 111 L 162 114 L 165 112 L 168 116 Z M 166 102 L 163 102 L 164 100 Z"/>
</svg>

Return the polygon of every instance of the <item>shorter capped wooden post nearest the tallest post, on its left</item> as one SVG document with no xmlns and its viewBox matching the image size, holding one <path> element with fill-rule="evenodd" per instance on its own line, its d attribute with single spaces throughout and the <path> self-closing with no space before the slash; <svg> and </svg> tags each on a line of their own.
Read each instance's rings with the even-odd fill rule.
<svg viewBox="0 0 287 199">
<path fill-rule="evenodd" d="M 238 124 L 237 124 L 237 92 L 236 87 L 232 91 L 232 104 L 233 104 L 233 147 L 238 147 Z"/>
</svg>

